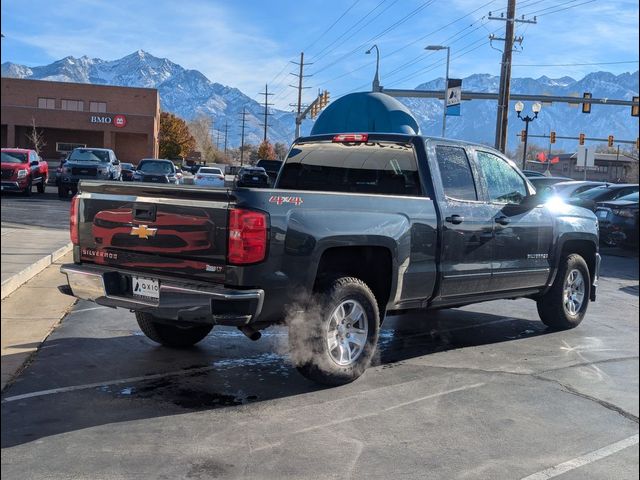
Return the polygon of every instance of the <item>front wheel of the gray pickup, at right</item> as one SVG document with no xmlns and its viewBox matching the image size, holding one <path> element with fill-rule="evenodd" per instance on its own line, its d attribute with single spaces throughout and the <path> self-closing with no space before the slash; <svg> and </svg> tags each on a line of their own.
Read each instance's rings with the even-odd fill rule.
<svg viewBox="0 0 640 480">
<path fill-rule="evenodd" d="M 537 302 L 538 314 L 540 320 L 548 327 L 555 330 L 567 330 L 580 325 L 587 313 L 591 294 L 591 276 L 584 258 L 576 253 L 563 257 L 560 262 L 560 268 L 553 285 Z M 574 272 L 579 272 L 584 286 L 579 307 L 576 307 L 576 303 L 571 305 L 571 296 L 565 296 L 565 288 L 570 290 L 568 278 Z M 571 311 L 572 309 L 574 311 Z"/>
</svg>

